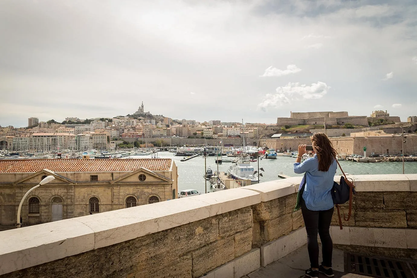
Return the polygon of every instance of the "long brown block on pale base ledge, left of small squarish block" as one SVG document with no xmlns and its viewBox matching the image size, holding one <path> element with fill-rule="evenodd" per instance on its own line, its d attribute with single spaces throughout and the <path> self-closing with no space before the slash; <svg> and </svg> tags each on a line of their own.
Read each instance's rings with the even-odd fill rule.
<svg viewBox="0 0 417 278">
<path fill-rule="evenodd" d="M 224 238 L 192 251 L 193 277 L 223 265 L 234 259 L 234 237 Z"/>
</svg>

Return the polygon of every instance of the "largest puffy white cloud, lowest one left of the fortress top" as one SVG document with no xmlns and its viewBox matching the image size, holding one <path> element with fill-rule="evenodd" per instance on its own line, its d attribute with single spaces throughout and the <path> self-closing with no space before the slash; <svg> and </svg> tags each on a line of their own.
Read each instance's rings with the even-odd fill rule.
<svg viewBox="0 0 417 278">
<path fill-rule="evenodd" d="M 266 94 L 262 102 L 258 104 L 258 108 L 266 111 L 268 107 L 278 108 L 293 100 L 319 99 L 326 95 L 329 89 L 330 86 L 320 81 L 311 85 L 288 83 L 286 86 L 276 88 L 276 94 Z"/>
</svg>

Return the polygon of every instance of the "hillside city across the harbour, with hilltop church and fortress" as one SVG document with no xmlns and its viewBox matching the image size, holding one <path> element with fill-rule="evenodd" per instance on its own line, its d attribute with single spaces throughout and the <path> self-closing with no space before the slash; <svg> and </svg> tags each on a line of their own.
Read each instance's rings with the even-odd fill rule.
<svg viewBox="0 0 417 278">
<path fill-rule="evenodd" d="M 107 150 L 118 146 L 140 147 L 145 143 L 167 145 L 158 138 L 197 139 L 267 139 L 276 134 L 286 138 L 308 138 L 312 130 L 332 132 L 329 137 L 349 136 L 352 132 L 382 130 L 399 133 L 401 125 L 411 125 L 406 131 L 414 133 L 417 116 L 401 122 L 387 111 L 377 110 L 367 116 L 349 116 L 347 112 L 293 113 L 289 118 L 277 118 L 277 123 L 239 123 L 221 120 L 173 120 L 144 111 L 144 105 L 133 114 L 113 118 L 79 119 L 67 117 L 61 123 L 55 120 L 39 121 L 28 118 L 28 126 L 15 128 L 0 126 L 0 149 L 25 151 Z M 414 125 L 413 125 L 414 124 Z M 275 134 L 275 136 L 274 136 Z M 370 135 L 370 134 L 368 134 Z M 123 143 L 124 142 L 124 143 Z M 256 144 L 256 142 L 254 142 Z"/>
</svg>

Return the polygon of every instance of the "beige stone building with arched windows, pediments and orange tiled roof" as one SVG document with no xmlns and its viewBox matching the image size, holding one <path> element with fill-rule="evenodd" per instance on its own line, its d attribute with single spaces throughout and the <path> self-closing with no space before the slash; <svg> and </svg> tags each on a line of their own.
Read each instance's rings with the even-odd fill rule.
<svg viewBox="0 0 417 278">
<path fill-rule="evenodd" d="M 177 167 L 166 158 L 0 160 L 0 229 L 16 224 L 23 195 L 48 175 L 55 179 L 23 203 L 23 225 L 165 201 L 178 193 Z"/>
</svg>

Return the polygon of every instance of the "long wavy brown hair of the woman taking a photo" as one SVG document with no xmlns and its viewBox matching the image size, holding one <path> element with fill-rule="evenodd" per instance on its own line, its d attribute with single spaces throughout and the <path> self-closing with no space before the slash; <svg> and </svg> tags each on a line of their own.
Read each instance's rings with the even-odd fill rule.
<svg viewBox="0 0 417 278">
<path fill-rule="evenodd" d="M 314 143 L 317 158 L 319 159 L 319 171 L 327 172 L 332 165 L 333 160 L 336 159 L 336 150 L 333 148 L 332 142 L 326 134 L 322 132 L 314 133 L 311 136 L 311 142 Z"/>
</svg>

